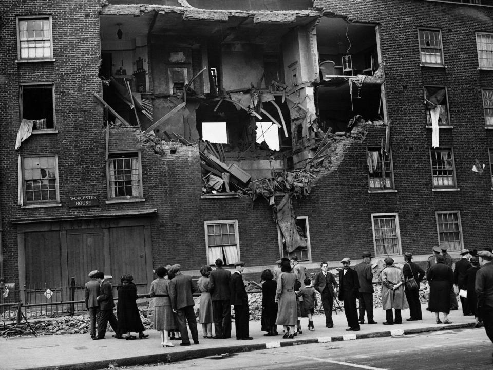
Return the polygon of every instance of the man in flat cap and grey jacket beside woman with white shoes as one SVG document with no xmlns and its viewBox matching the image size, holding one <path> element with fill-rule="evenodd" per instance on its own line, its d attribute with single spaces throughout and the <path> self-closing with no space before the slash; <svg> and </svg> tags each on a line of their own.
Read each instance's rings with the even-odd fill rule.
<svg viewBox="0 0 493 370">
<path fill-rule="evenodd" d="M 194 344 L 199 344 L 193 296 L 194 293 L 198 292 L 197 286 L 192 281 L 192 276 L 181 273 L 181 266 L 178 264 L 173 265 L 168 270 L 168 275 L 174 275 L 174 278 L 169 282 L 169 299 L 173 312 L 176 313 L 178 319 L 178 327 L 180 328 L 181 335 L 180 345 L 190 345 L 186 322 L 188 322 Z"/>
</svg>

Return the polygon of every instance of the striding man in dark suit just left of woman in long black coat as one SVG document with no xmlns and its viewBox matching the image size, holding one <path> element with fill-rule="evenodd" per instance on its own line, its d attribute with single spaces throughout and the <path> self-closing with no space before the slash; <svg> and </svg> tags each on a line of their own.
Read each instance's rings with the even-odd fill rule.
<svg viewBox="0 0 493 370">
<path fill-rule="evenodd" d="M 113 301 L 113 288 L 111 283 L 105 280 L 103 272 L 98 272 L 94 275 L 100 284 L 99 295 L 96 298 L 99 302 L 99 321 L 98 321 L 98 336 L 92 339 L 104 339 L 106 334 L 106 327 L 108 326 L 108 321 L 115 334 L 112 335 L 113 338 L 122 339 L 120 335 L 120 330 L 118 328 L 118 321 L 113 313 L 113 308 L 115 307 L 115 301 Z"/>
</svg>

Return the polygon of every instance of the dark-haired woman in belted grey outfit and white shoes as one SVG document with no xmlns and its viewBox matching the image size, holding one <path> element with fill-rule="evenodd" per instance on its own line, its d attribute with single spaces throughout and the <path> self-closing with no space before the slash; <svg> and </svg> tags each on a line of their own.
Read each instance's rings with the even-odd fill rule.
<svg viewBox="0 0 493 370">
<path fill-rule="evenodd" d="M 162 347 L 174 347 L 169 341 L 169 331 L 175 330 L 175 317 L 169 300 L 169 280 L 164 279 L 168 274 L 166 268 L 160 266 L 156 269 L 158 278 L 150 284 L 150 297 L 156 297 L 154 301 L 154 329 L 161 334 Z"/>
</svg>

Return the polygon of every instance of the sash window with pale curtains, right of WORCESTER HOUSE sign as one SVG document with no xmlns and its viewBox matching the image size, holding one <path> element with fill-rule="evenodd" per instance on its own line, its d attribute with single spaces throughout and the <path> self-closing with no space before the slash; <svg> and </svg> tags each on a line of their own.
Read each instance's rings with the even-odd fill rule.
<svg viewBox="0 0 493 370">
<path fill-rule="evenodd" d="M 108 198 L 142 198 L 140 152 L 108 156 Z"/>
</svg>

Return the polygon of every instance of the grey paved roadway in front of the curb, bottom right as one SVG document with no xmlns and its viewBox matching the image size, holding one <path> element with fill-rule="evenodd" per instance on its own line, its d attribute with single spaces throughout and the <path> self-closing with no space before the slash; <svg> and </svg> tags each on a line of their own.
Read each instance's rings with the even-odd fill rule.
<svg viewBox="0 0 493 370">
<path fill-rule="evenodd" d="M 281 347 L 158 364 L 153 370 L 457 370 L 493 368 L 484 329 Z M 149 367 L 149 366 L 145 366 Z M 141 367 L 132 367 L 139 369 Z M 143 367 L 142 367 L 143 368 Z"/>
</svg>

